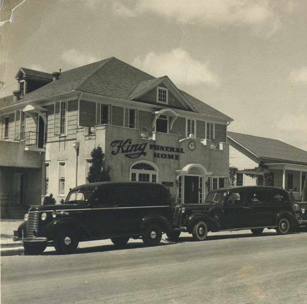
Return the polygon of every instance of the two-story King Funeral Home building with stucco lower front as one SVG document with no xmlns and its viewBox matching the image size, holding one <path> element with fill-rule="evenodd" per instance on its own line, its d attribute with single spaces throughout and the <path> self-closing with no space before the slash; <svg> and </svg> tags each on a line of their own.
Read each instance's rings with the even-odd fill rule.
<svg viewBox="0 0 307 304">
<path fill-rule="evenodd" d="M 62 73 L 21 68 L 16 78 L 14 100 L 0 100 L 2 216 L 50 193 L 60 203 L 87 182 L 98 145 L 112 181 L 158 182 L 186 203 L 228 185 L 233 119 L 167 76 L 111 57 Z"/>
</svg>

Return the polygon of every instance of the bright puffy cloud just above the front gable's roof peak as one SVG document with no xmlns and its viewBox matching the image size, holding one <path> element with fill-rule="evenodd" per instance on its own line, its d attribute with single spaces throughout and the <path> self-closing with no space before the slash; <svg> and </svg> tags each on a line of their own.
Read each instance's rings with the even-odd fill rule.
<svg viewBox="0 0 307 304">
<path fill-rule="evenodd" d="M 178 86 L 219 85 L 219 79 L 208 68 L 208 62 L 193 59 L 181 48 L 159 54 L 149 52 L 144 57 L 136 57 L 132 65 L 156 77 L 167 75 Z"/>
</svg>

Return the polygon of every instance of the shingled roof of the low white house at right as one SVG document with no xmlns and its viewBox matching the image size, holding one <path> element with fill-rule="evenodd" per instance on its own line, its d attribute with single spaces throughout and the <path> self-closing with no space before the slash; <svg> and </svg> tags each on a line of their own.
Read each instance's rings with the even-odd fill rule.
<svg viewBox="0 0 307 304">
<path fill-rule="evenodd" d="M 258 137 L 227 131 L 227 136 L 256 154 L 259 158 L 274 158 L 307 164 L 307 151 L 281 142 L 278 139 Z"/>
</svg>

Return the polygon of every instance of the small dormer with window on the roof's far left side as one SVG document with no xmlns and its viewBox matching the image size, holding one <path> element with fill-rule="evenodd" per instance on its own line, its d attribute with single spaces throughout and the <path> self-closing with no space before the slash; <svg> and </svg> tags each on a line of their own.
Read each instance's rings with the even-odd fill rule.
<svg viewBox="0 0 307 304">
<path fill-rule="evenodd" d="M 53 75 L 45 72 L 35 71 L 28 68 L 20 68 L 16 79 L 18 80 L 19 98 L 25 94 L 41 88 L 45 84 L 52 82 Z"/>
</svg>

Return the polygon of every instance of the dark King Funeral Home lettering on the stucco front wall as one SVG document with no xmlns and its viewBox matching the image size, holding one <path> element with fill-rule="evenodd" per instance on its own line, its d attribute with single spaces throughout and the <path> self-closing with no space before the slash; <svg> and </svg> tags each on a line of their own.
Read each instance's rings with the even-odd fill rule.
<svg viewBox="0 0 307 304">
<path fill-rule="evenodd" d="M 111 154 L 116 155 L 118 153 L 124 154 L 128 158 L 138 158 L 141 155 L 146 156 L 145 152 L 147 143 L 133 144 L 132 139 L 114 140 L 111 142 L 111 147 L 114 148 Z M 166 158 L 179 160 L 179 155 L 172 153 L 185 153 L 182 148 L 175 148 L 169 146 L 149 145 L 150 150 L 159 152 L 153 152 L 154 158 Z"/>
</svg>

